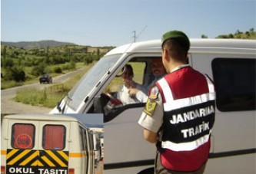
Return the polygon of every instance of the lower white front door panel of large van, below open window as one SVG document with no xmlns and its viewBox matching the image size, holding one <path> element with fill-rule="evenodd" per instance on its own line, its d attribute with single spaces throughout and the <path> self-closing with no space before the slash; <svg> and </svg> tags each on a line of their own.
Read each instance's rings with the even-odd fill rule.
<svg viewBox="0 0 256 174">
<path fill-rule="evenodd" d="M 143 108 L 130 107 L 105 122 L 104 136 L 113 137 L 104 140 L 105 173 L 121 173 L 121 169 L 125 173 L 138 173 L 154 165 L 155 144 L 143 139 L 143 129 L 138 125 Z"/>
</svg>

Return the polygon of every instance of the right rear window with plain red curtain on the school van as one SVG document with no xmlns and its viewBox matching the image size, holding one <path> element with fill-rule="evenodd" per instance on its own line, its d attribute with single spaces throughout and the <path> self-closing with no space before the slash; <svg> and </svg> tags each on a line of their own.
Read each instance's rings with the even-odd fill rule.
<svg viewBox="0 0 256 174">
<path fill-rule="evenodd" d="M 43 129 L 44 149 L 64 149 L 65 148 L 65 126 L 45 125 Z"/>
</svg>

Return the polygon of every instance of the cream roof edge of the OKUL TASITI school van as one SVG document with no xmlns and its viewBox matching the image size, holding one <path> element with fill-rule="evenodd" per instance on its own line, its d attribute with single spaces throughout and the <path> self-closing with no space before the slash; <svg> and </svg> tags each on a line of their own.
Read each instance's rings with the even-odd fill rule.
<svg viewBox="0 0 256 174">
<path fill-rule="evenodd" d="M 17 114 L 17 115 L 6 115 L 4 119 L 12 120 L 43 120 L 43 121 L 75 121 L 78 122 L 74 117 L 68 117 L 63 115 L 52 115 L 52 114 L 40 114 L 40 113 L 28 113 L 28 114 Z"/>
</svg>

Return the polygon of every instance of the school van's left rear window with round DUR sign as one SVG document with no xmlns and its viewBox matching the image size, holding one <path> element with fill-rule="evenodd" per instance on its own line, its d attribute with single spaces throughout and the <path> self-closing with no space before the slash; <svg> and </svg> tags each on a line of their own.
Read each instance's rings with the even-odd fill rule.
<svg viewBox="0 0 256 174">
<path fill-rule="evenodd" d="M 35 142 L 35 126 L 17 123 L 12 126 L 12 147 L 15 149 L 32 149 Z"/>
</svg>

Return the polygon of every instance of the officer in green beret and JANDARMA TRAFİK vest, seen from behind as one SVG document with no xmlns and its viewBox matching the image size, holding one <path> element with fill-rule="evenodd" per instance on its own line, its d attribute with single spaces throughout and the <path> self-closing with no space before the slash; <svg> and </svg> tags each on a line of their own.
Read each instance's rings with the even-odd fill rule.
<svg viewBox="0 0 256 174">
<path fill-rule="evenodd" d="M 203 173 L 214 125 L 214 84 L 187 64 L 190 42 L 182 31 L 162 37 L 168 72 L 155 83 L 138 123 L 156 143 L 156 173 Z"/>
</svg>

